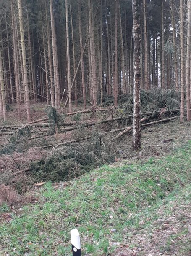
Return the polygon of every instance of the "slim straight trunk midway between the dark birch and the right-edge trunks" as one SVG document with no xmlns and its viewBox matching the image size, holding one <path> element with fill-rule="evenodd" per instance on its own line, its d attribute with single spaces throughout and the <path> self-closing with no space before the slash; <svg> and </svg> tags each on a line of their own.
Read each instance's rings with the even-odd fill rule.
<svg viewBox="0 0 191 256">
<path fill-rule="evenodd" d="M 161 57 L 162 57 L 162 73 L 161 73 L 161 88 L 165 88 L 165 51 L 164 51 L 164 0 L 161 6 Z"/>
</svg>

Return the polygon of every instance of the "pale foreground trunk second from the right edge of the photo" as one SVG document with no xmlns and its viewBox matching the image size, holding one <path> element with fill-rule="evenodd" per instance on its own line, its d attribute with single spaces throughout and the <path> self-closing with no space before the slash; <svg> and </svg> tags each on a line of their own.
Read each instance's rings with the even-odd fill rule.
<svg viewBox="0 0 191 256">
<path fill-rule="evenodd" d="M 184 16 L 183 16 L 183 0 L 180 0 L 180 37 L 181 37 L 181 122 L 184 121 Z"/>
</svg>

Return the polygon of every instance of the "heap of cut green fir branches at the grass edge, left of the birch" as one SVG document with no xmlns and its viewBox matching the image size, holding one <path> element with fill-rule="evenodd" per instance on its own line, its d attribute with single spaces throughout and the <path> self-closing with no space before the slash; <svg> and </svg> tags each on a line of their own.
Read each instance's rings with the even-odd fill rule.
<svg viewBox="0 0 191 256">
<path fill-rule="evenodd" d="M 31 163 L 29 175 L 36 181 L 65 181 L 94 167 L 114 161 L 111 145 L 94 132 L 91 139 L 80 144 L 55 148 L 47 157 Z"/>
</svg>

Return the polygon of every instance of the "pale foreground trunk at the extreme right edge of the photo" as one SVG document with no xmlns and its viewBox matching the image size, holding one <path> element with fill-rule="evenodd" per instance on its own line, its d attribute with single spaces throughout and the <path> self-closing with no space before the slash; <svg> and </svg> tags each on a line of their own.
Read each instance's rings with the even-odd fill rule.
<svg viewBox="0 0 191 256">
<path fill-rule="evenodd" d="M 186 111 L 187 121 L 191 121 L 190 103 L 190 54 L 191 54 L 191 0 L 188 1 L 188 28 L 187 28 L 187 48 L 186 48 Z"/>
</svg>

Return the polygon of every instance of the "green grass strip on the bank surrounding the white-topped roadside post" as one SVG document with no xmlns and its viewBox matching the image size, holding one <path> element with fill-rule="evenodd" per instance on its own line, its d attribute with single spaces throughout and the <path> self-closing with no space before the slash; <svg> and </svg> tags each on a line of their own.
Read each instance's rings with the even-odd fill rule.
<svg viewBox="0 0 191 256">
<path fill-rule="evenodd" d="M 70 256 L 70 230 L 76 227 L 82 255 L 108 255 L 123 242 L 124 229 L 131 236 L 141 220 L 145 227 L 156 220 L 160 205 L 170 204 L 177 194 L 189 201 L 190 181 L 191 142 L 145 164 L 103 166 L 59 189 L 47 182 L 37 203 L 11 213 L 12 221 L 1 224 L 0 255 Z M 165 209 L 169 214 L 170 207 Z M 7 210 L 3 205 L 0 213 Z"/>
</svg>

